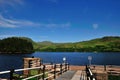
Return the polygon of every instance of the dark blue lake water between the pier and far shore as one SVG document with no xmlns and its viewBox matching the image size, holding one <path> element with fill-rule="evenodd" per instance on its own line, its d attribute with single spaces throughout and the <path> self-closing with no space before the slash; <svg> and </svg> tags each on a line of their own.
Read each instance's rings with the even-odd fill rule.
<svg viewBox="0 0 120 80">
<path fill-rule="evenodd" d="M 42 58 L 45 63 L 62 63 L 66 57 L 70 65 L 86 65 L 89 63 L 88 56 L 92 56 L 91 64 L 97 65 L 120 65 L 119 53 L 91 53 L 91 52 L 35 52 L 32 54 L 0 54 L 0 71 L 12 68 L 23 68 L 24 57 Z"/>
</svg>

